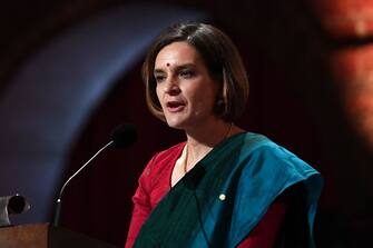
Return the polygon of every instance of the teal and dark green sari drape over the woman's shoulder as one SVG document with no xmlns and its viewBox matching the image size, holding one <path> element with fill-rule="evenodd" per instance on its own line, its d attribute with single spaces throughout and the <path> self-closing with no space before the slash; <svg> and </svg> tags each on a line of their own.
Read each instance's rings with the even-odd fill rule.
<svg viewBox="0 0 373 248">
<path fill-rule="evenodd" d="M 216 146 L 160 200 L 134 247 L 227 247 L 244 240 L 271 204 L 303 182 L 310 246 L 320 173 L 264 136 L 245 132 Z"/>
</svg>

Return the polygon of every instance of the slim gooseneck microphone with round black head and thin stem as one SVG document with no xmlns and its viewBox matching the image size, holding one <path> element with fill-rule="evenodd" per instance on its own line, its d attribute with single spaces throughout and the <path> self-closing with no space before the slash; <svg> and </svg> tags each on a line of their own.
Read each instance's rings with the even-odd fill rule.
<svg viewBox="0 0 373 248">
<path fill-rule="evenodd" d="M 59 224 L 61 204 L 62 204 L 61 198 L 62 198 L 63 190 L 68 186 L 68 183 L 71 181 L 71 179 L 75 178 L 81 170 L 84 170 L 89 165 L 90 161 L 92 161 L 99 153 L 101 153 L 101 151 L 104 151 L 108 147 L 112 146 L 115 148 L 127 148 L 127 147 L 131 146 L 132 143 L 135 143 L 135 141 L 137 140 L 137 132 L 136 132 L 136 129 L 132 125 L 125 123 L 125 125 L 117 126 L 111 131 L 110 137 L 111 137 L 110 141 L 107 145 L 105 145 L 101 149 L 99 149 L 90 159 L 88 159 L 88 161 L 85 165 L 82 165 L 62 185 L 62 187 L 59 191 L 59 195 L 58 195 L 58 199 L 56 201 L 56 211 L 55 211 L 55 218 L 53 218 L 53 226 L 55 227 L 57 227 L 58 224 Z"/>
</svg>

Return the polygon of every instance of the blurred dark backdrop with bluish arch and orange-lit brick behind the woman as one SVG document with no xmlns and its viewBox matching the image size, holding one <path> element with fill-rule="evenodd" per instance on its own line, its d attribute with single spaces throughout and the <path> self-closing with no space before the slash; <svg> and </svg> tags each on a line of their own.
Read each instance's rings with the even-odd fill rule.
<svg viewBox="0 0 373 248">
<path fill-rule="evenodd" d="M 62 182 L 130 122 L 139 139 L 108 150 L 66 189 L 61 226 L 124 246 L 137 178 L 185 139 L 146 108 L 147 47 L 181 20 L 213 23 L 237 44 L 251 97 L 239 126 L 322 172 L 317 247 L 363 247 L 373 230 L 373 3 L 367 0 L 0 3 L 0 195 L 51 221 Z"/>
</svg>

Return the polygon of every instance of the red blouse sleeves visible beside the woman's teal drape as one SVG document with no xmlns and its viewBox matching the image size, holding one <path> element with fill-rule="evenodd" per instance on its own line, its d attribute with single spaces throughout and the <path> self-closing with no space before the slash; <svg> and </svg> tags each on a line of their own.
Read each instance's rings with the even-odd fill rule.
<svg viewBox="0 0 373 248">
<path fill-rule="evenodd" d="M 134 211 L 127 236 L 126 248 L 131 248 L 143 224 L 159 200 L 171 188 L 171 173 L 180 157 L 185 142 L 156 153 L 146 166 L 138 180 L 132 197 Z M 285 204 L 275 201 L 258 225 L 251 231 L 238 248 L 269 248 L 275 244 L 277 232 L 285 216 Z"/>
</svg>

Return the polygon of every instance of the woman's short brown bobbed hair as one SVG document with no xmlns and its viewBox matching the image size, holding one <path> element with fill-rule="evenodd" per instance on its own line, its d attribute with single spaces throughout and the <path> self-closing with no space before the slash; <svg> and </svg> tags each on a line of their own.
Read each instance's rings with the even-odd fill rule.
<svg viewBox="0 0 373 248">
<path fill-rule="evenodd" d="M 248 80 L 242 58 L 224 32 L 210 24 L 195 22 L 177 23 L 165 29 L 145 58 L 143 80 L 150 112 L 165 120 L 156 93 L 154 67 L 158 52 L 177 41 L 193 46 L 203 58 L 210 77 L 219 83 L 215 115 L 225 121 L 236 120 L 244 112 L 248 97 Z"/>
</svg>

